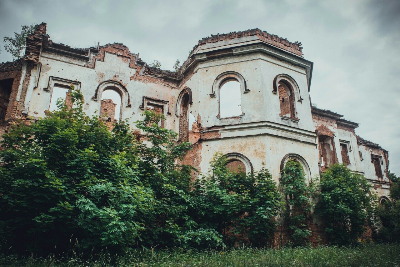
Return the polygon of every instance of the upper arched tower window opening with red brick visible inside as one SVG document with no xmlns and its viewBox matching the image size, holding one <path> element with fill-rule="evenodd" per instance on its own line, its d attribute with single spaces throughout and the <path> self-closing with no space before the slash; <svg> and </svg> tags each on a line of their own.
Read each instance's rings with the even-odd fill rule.
<svg viewBox="0 0 400 267">
<path fill-rule="evenodd" d="M 280 114 L 291 119 L 296 119 L 295 97 L 293 87 L 290 83 L 284 80 L 278 82 L 278 94 Z"/>
</svg>

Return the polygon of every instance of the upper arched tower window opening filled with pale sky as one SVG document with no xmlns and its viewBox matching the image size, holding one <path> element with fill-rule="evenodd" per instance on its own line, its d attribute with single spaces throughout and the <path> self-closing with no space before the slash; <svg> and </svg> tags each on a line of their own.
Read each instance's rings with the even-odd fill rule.
<svg viewBox="0 0 400 267">
<path fill-rule="evenodd" d="M 240 83 L 236 79 L 228 79 L 220 86 L 220 118 L 242 115 Z"/>
</svg>

